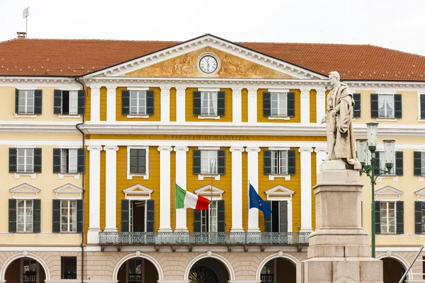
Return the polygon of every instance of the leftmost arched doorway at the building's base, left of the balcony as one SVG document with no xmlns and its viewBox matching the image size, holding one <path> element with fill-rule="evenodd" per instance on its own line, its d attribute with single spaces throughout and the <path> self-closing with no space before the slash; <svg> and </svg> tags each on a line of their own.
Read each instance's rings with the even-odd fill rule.
<svg viewBox="0 0 425 283">
<path fill-rule="evenodd" d="M 17 258 L 11 262 L 4 277 L 8 283 L 44 283 L 46 273 L 33 258 Z"/>
</svg>

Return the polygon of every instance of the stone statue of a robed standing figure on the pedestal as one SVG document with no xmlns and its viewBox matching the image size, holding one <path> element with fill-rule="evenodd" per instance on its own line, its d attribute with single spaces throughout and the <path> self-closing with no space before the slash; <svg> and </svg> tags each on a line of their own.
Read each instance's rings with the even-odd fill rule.
<svg viewBox="0 0 425 283">
<path fill-rule="evenodd" d="M 341 83 L 339 73 L 331 71 L 329 81 L 331 91 L 327 96 L 327 114 L 322 119 L 326 122 L 328 154 L 327 160 L 342 159 L 360 170 L 361 164 L 356 158 L 356 143 L 353 137 L 353 93 L 346 83 Z"/>
</svg>

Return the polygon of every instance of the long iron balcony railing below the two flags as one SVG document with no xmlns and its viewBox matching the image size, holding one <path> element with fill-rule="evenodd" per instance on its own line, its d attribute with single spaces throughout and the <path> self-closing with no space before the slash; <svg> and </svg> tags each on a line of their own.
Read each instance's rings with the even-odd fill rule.
<svg viewBox="0 0 425 283">
<path fill-rule="evenodd" d="M 101 232 L 99 243 L 113 245 L 302 245 L 310 233 L 278 232 Z"/>
</svg>

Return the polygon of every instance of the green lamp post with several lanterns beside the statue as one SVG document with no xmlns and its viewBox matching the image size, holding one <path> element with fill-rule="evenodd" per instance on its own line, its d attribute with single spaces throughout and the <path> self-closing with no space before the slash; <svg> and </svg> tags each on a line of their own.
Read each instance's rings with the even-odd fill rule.
<svg viewBox="0 0 425 283">
<path fill-rule="evenodd" d="M 361 163 L 360 173 L 366 173 L 370 178 L 370 185 L 372 185 L 372 215 L 371 219 L 371 233 L 372 233 L 372 258 L 375 258 L 375 184 L 376 178 L 382 174 L 390 173 L 391 168 L 394 164 L 395 157 L 395 139 L 384 139 L 384 153 L 385 153 L 385 169 L 381 169 L 379 164 L 375 163 L 375 151 L 376 151 L 376 137 L 378 135 L 378 123 L 368 122 L 368 138 L 367 139 L 356 139 L 356 151 L 358 161 Z M 368 154 L 370 151 L 370 157 Z M 378 169 L 377 172 L 375 170 Z M 378 207 L 378 209 L 380 209 Z"/>
</svg>

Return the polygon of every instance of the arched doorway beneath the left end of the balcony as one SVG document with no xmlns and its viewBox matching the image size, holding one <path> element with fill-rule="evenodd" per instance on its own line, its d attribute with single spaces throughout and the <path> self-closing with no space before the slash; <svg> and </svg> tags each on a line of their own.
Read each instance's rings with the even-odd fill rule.
<svg viewBox="0 0 425 283">
<path fill-rule="evenodd" d="M 130 258 L 118 270 L 118 283 L 157 283 L 157 267 L 146 258 Z"/>
</svg>

